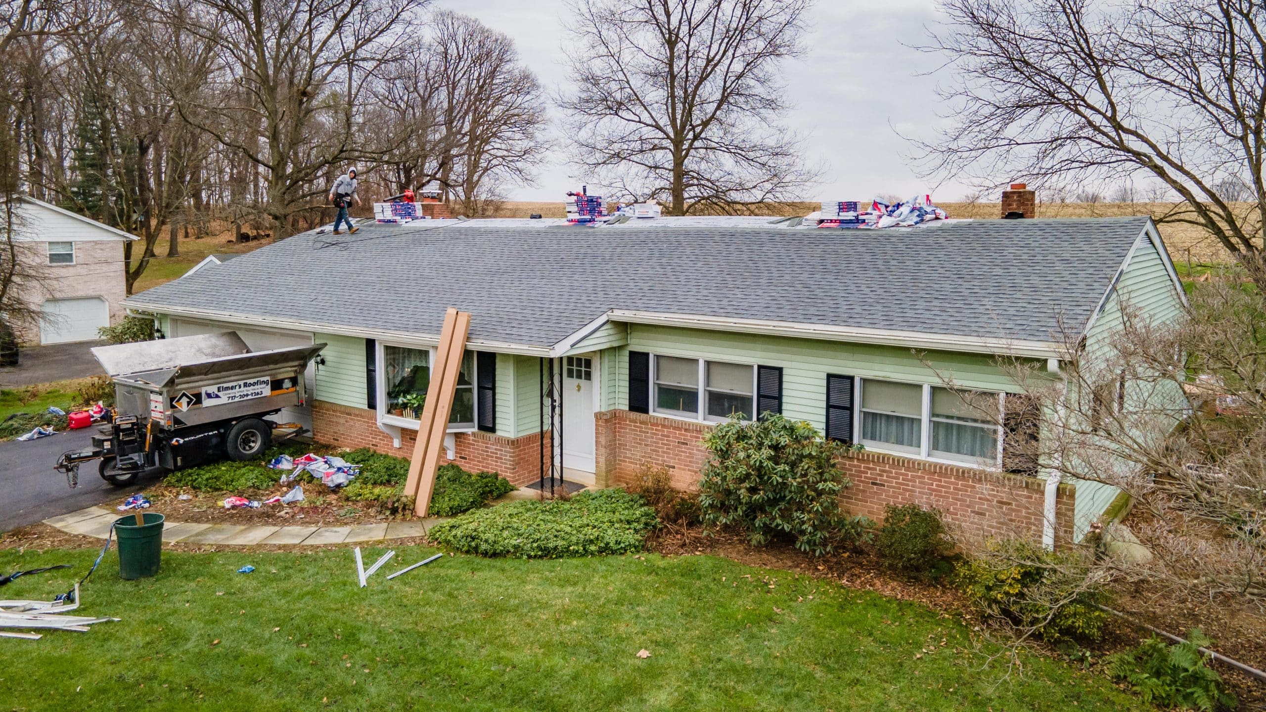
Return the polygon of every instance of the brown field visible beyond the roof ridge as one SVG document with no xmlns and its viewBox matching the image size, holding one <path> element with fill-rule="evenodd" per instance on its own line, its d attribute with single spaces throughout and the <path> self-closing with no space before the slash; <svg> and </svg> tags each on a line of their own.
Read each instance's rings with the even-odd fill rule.
<svg viewBox="0 0 1266 712">
<path fill-rule="evenodd" d="M 937 203 L 951 218 L 991 219 L 1001 217 L 998 203 Z M 805 215 L 819 203 L 779 203 L 761 210 L 766 215 Z M 1170 203 L 1039 203 L 1039 218 L 1105 218 L 1119 215 L 1152 215 L 1160 218 L 1172 209 Z M 496 218 L 527 218 L 539 213 L 544 218 L 562 218 L 563 201 L 505 201 Z M 1225 262 L 1227 251 L 1203 228 L 1182 223 L 1161 224 L 1161 237 L 1175 262 Z"/>
</svg>

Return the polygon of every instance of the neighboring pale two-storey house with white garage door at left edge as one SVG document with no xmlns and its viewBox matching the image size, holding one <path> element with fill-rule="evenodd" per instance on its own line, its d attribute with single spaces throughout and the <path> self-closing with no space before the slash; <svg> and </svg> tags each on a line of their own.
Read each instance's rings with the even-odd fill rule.
<svg viewBox="0 0 1266 712">
<path fill-rule="evenodd" d="M 20 199 L 14 232 L 24 247 L 19 295 L 39 313 L 38 323 L 14 324 L 20 341 L 95 341 L 123 317 L 123 245 L 135 236 L 34 198 Z"/>
</svg>

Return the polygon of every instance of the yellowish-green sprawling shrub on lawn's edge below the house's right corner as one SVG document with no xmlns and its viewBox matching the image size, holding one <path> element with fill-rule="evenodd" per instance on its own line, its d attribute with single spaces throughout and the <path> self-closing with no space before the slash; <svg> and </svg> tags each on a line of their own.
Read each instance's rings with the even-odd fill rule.
<svg viewBox="0 0 1266 712">
<path fill-rule="evenodd" d="M 1032 631 L 1048 642 L 1098 640 L 1108 595 L 1089 579 L 1075 551 L 1047 551 L 1028 540 L 991 541 L 956 571 L 968 601 L 986 618 Z"/>
</svg>

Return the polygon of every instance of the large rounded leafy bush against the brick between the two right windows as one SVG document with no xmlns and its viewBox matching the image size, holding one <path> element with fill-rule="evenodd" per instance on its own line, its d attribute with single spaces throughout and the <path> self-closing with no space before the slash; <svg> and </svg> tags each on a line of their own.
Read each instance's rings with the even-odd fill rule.
<svg viewBox="0 0 1266 712">
<path fill-rule="evenodd" d="M 809 423 L 777 414 L 717 426 L 704 446 L 711 454 L 699 483 L 704 522 L 734 524 L 762 546 L 790 535 L 796 549 L 822 556 L 861 536 L 861 519 L 839 509 L 848 478 L 836 456 L 848 446 L 825 440 Z"/>
</svg>

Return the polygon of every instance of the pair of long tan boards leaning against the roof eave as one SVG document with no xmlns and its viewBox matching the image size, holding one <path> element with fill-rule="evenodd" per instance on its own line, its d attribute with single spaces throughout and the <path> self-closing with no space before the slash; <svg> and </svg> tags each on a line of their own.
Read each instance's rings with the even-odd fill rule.
<svg viewBox="0 0 1266 712">
<path fill-rule="evenodd" d="M 452 317 L 452 329 L 448 328 Z M 453 408 L 453 395 L 457 390 L 457 378 L 462 370 L 462 353 L 466 351 L 466 336 L 470 332 L 471 315 L 467 312 L 449 309 L 444 315 L 444 329 L 437 347 L 437 364 L 442 369 L 432 370 L 430 385 L 427 388 L 427 403 L 423 407 L 422 423 L 430 426 L 428 432 L 418 431 L 418 441 L 409 464 L 410 475 L 418 470 L 417 490 L 410 490 L 408 483 L 405 494 L 414 495 L 414 512 L 425 517 L 430 509 L 430 495 L 436 488 L 436 473 L 439 469 L 439 448 L 443 446 L 448 429 L 448 414 Z M 447 338 L 446 338 L 447 336 Z M 438 376 L 438 378 L 437 378 Z M 427 410 L 430 410 L 429 418 Z M 420 426 L 419 426 L 420 427 Z M 413 478 L 409 478 L 413 481 Z"/>
</svg>

